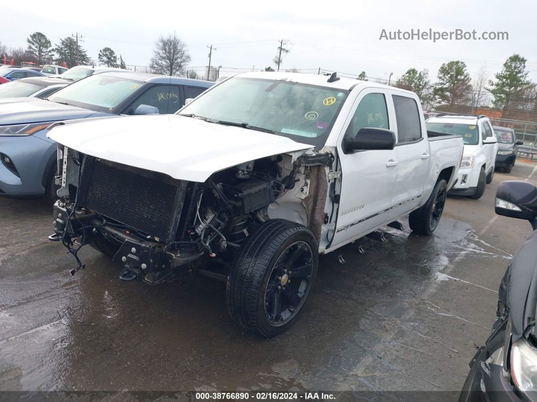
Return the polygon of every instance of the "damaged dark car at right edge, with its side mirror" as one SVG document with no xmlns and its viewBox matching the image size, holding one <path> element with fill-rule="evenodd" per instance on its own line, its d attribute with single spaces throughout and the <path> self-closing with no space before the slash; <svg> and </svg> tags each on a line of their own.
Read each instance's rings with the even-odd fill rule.
<svg viewBox="0 0 537 402">
<path fill-rule="evenodd" d="M 496 213 L 529 221 L 533 233 L 500 283 L 492 333 L 470 362 L 460 401 L 527 401 L 537 395 L 537 187 L 503 181 Z"/>
</svg>

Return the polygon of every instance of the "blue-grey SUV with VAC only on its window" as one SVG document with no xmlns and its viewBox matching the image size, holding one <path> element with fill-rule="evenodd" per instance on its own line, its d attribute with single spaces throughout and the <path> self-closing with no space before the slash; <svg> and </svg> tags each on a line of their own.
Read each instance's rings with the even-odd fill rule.
<svg viewBox="0 0 537 402">
<path fill-rule="evenodd" d="M 47 194 L 55 200 L 56 145 L 46 137 L 51 123 L 119 114 L 173 113 L 184 105 L 186 96 L 197 95 L 211 85 L 196 79 L 115 71 L 72 83 L 47 100 L 0 99 L 0 195 Z"/>
</svg>

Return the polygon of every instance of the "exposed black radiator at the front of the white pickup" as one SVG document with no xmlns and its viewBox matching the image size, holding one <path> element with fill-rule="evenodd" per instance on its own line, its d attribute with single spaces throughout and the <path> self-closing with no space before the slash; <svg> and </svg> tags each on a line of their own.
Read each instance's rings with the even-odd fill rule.
<svg viewBox="0 0 537 402">
<path fill-rule="evenodd" d="M 85 207 L 147 235 L 175 237 L 180 180 L 98 159 L 88 167 Z"/>
</svg>

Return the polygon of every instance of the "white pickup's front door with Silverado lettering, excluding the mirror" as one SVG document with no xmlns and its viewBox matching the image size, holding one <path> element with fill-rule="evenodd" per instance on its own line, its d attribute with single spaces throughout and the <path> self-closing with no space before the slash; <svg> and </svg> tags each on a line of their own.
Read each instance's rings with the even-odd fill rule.
<svg viewBox="0 0 537 402">
<path fill-rule="evenodd" d="M 343 152 L 345 136 L 362 127 L 393 130 L 393 106 L 386 90 L 366 88 L 358 94 L 338 138 L 341 190 L 332 244 L 344 243 L 386 222 L 397 176 L 397 150 Z"/>
</svg>

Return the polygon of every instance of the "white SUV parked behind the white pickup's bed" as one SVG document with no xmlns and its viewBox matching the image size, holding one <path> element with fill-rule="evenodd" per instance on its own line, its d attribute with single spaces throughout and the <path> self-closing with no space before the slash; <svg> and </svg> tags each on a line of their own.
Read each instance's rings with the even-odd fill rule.
<svg viewBox="0 0 537 402">
<path fill-rule="evenodd" d="M 485 115 L 439 115 L 427 120 L 427 130 L 459 134 L 465 142 L 458 180 L 451 193 L 480 199 L 485 185 L 492 182 L 498 144 Z"/>
</svg>

